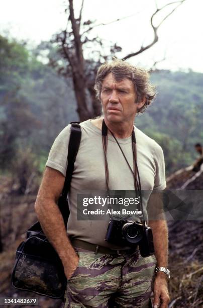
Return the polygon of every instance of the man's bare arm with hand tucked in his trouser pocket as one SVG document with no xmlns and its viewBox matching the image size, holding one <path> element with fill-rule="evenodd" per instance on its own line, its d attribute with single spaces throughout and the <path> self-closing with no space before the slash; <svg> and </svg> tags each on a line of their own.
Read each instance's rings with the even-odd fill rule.
<svg viewBox="0 0 203 308">
<path fill-rule="evenodd" d="M 63 217 L 56 204 L 64 185 L 64 176 L 57 170 L 47 167 L 35 203 L 35 210 L 43 231 L 58 253 L 69 278 L 78 264 L 78 255 L 72 247 Z"/>
</svg>

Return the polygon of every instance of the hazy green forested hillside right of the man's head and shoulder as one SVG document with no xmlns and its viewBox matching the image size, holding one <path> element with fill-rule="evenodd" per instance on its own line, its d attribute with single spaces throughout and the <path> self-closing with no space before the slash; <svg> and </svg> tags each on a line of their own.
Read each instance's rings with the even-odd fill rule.
<svg viewBox="0 0 203 308">
<path fill-rule="evenodd" d="M 136 123 L 162 146 L 169 174 L 191 165 L 193 145 L 202 142 L 203 74 L 163 70 L 152 74 L 152 82 L 157 98 Z"/>
</svg>

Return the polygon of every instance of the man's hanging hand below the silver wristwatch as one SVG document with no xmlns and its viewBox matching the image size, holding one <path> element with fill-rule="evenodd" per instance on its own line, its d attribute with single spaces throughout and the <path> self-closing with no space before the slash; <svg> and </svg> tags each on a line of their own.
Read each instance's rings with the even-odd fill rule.
<svg viewBox="0 0 203 308">
<path fill-rule="evenodd" d="M 153 308 L 167 308 L 170 300 L 167 286 L 167 278 L 164 273 L 158 272 L 154 280 Z M 160 304 L 160 305 L 159 305 Z"/>
</svg>

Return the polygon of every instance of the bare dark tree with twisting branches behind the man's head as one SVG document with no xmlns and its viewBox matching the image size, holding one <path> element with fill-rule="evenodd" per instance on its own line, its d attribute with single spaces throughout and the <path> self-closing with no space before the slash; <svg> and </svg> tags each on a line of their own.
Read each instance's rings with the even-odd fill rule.
<svg viewBox="0 0 203 308">
<path fill-rule="evenodd" d="M 137 51 L 127 54 L 123 57 L 123 60 L 134 57 L 156 44 L 158 41 L 158 29 L 184 1 L 185 0 L 170 2 L 161 8 L 158 8 L 156 5 L 156 11 L 151 16 L 151 27 L 154 33 L 153 40 L 146 46 L 141 46 Z M 108 25 L 110 23 L 95 24 L 95 22 L 90 20 L 82 23 L 83 3 L 84 1 L 82 0 L 79 17 L 76 18 L 74 14 L 73 0 L 68 0 L 68 8 L 66 9 L 66 13 L 68 14 L 66 29 L 57 34 L 53 40 L 53 42 L 57 42 L 58 44 L 63 59 L 63 65 L 58 65 L 56 64 L 56 61 L 52 60 L 54 66 L 58 65 L 58 71 L 60 74 L 64 75 L 66 78 L 70 76 L 72 78 L 77 102 L 77 112 L 81 121 L 100 115 L 100 103 L 95 99 L 95 93 L 93 90 L 95 72 L 100 63 L 112 59 L 117 52 L 122 50 L 120 46 L 113 44 L 110 46 L 110 55 L 106 55 L 102 51 L 103 42 L 101 39 L 98 37 L 88 37 L 89 32 L 93 28 L 101 25 Z M 155 26 L 154 19 L 157 14 L 170 6 L 172 6 L 173 9 L 159 22 L 158 25 Z M 117 19 L 111 23 L 120 20 L 121 19 Z M 83 49 L 85 44 L 89 43 L 93 44 L 94 48 L 91 49 L 91 53 L 94 54 L 94 58 L 97 57 L 96 60 L 93 57 L 90 57 L 88 60 L 84 59 Z"/>
</svg>

